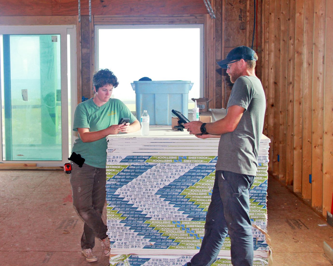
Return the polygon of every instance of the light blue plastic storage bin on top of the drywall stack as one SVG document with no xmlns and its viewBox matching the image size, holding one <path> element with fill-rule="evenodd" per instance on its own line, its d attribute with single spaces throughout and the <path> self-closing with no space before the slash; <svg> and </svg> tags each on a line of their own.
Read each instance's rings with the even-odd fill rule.
<svg viewBox="0 0 333 266">
<path fill-rule="evenodd" d="M 185 80 L 134 81 L 136 113 L 140 121 L 144 110 L 148 111 L 150 125 L 171 125 L 171 110 L 188 114 L 188 91 L 193 83 Z"/>
</svg>

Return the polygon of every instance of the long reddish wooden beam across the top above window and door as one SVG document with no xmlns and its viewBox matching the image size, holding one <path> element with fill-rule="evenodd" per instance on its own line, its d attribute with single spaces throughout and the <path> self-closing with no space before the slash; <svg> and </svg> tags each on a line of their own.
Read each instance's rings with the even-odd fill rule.
<svg viewBox="0 0 333 266">
<path fill-rule="evenodd" d="M 81 15 L 89 15 L 89 0 L 81 0 Z M 92 0 L 92 15 L 207 14 L 202 0 Z M 0 16 L 78 15 L 77 0 L 6 0 Z"/>
</svg>

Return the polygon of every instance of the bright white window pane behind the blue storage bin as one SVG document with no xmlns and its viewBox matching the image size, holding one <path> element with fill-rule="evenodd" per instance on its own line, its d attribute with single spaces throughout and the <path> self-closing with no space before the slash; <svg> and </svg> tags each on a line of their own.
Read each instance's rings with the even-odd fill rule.
<svg viewBox="0 0 333 266">
<path fill-rule="evenodd" d="M 158 25 L 155 25 L 158 27 Z M 168 26 L 169 28 L 166 28 Z M 202 27 L 186 28 L 102 28 L 97 29 L 96 70 L 109 68 L 118 77 L 119 86 L 113 97 L 122 100 L 135 111 L 135 91 L 131 82 L 142 77 L 152 80 L 189 80 L 189 108 L 191 98 L 202 97 Z M 125 26 L 124 26 L 125 27 Z M 131 26 L 130 26 L 131 27 Z M 147 25 L 146 25 L 147 27 Z M 172 25 L 174 27 L 174 25 Z"/>
</svg>

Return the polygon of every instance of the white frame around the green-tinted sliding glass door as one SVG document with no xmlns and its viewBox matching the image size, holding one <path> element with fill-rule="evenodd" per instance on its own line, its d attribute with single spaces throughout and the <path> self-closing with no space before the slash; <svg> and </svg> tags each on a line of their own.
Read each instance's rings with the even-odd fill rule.
<svg viewBox="0 0 333 266">
<path fill-rule="evenodd" d="M 36 164 L 37 166 L 63 166 L 68 162 L 70 153 L 70 143 L 73 146 L 76 138 L 74 131 L 69 133 L 69 112 L 71 121 L 74 118 L 75 108 L 77 106 L 77 45 L 76 45 L 76 25 L 46 25 L 46 26 L 0 26 L 0 35 L 9 34 L 60 34 L 60 67 L 61 67 L 61 132 L 62 132 L 62 161 L 3 161 L 2 154 L 2 123 L 0 123 L 0 163 L 17 163 L 17 164 Z M 68 36 L 70 43 L 68 44 Z M 68 49 L 70 48 L 70 62 L 68 62 Z M 0 66 L 1 67 L 1 66 Z M 68 67 L 70 67 L 70 80 L 68 80 Z M 0 77 L 1 78 L 1 77 Z M 68 86 L 70 85 L 70 89 Z M 69 102 L 71 99 L 71 110 L 68 110 Z M 2 106 L 0 97 L 0 106 Z M 0 108 L 0 119 L 2 119 L 2 108 Z M 32 125 L 33 126 L 33 125 Z M 71 127 L 70 127 L 71 128 Z M 69 138 L 70 134 L 70 138 Z"/>
</svg>

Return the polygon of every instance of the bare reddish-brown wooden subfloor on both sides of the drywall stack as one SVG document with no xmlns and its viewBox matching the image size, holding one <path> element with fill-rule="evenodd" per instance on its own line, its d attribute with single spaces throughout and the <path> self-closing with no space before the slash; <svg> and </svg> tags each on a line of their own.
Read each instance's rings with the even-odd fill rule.
<svg viewBox="0 0 333 266">
<path fill-rule="evenodd" d="M 0 206 L 1 266 L 109 265 L 98 240 L 98 262 L 81 255 L 83 222 L 63 171 L 0 170 Z M 323 251 L 323 241 L 333 246 L 333 228 L 319 226 L 326 221 L 274 178 L 267 208 L 274 266 L 333 265 Z"/>
</svg>

